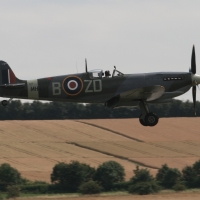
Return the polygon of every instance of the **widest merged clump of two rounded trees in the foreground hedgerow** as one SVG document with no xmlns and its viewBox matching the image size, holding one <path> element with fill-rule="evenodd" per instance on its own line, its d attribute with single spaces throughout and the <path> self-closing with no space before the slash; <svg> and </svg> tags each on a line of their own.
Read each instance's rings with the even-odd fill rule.
<svg viewBox="0 0 200 200">
<path fill-rule="evenodd" d="M 78 161 L 58 163 L 53 167 L 51 181 L 62 191 L 99 193 L 111 190 L 114 183 L 124 181 L 123 166 L 115 161 L 104 162 L 97 169 Z"/>
</svg>

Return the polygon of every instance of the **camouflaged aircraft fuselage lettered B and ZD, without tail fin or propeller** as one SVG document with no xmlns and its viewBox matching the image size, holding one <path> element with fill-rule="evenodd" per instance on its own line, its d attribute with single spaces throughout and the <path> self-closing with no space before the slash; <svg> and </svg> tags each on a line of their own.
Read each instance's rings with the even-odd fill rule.
<svg viewBox="0 0 200 200">
<path fill-rule="evenodd" d="M 1 96 L 83 103 L 105 103 L 119 96 L 121 102 L 125 98 L 124 100 L 127 99 L 131 104 L 132 101 L 140 100 L 139 97 L 137 99 L 137 95 L 134 96 L 134 92 L 140 88 L 164 87 L 165 91 L 159 98 L 162 100 L 182 95 L 192 86 L 191 73 L 186 72 L 125 74 L 113 77 L 91 77 L 89 73 L 81 73 L 35 80 L 18 80 L 18 82 L 24 83 L 25 86 L 15 89 L 1 88 Z M 123 96 L 123 93 L 128 91 L 132 91 L 130 98 Z"/>
</svg>

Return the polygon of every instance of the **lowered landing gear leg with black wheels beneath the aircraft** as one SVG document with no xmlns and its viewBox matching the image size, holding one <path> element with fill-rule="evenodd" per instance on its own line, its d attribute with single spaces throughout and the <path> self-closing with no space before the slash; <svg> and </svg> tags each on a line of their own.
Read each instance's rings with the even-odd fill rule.
<svg viewBox="0 0 200 200">
<path fill-rule="evenodd" d="M 152 112 L 149 112 L 146 101 L 140 101 L 139 103 L 142 115 L 139 118 L 140 123 L 143 126 L 155 126 L 158 123 L 158 116 Z"/>
</svg>

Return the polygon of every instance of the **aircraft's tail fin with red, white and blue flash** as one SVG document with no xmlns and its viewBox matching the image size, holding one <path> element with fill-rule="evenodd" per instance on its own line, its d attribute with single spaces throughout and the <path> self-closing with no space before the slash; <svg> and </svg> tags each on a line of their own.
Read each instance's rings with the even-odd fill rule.
<svg viewBox="0 0 200 200">
<path fill-rule="evenodd" d="M 19 79 L 15 76 L 9 65 L 4 61 L 0 61 L 0 85 L 16 84 L 18 82 Z"/>
</svg>

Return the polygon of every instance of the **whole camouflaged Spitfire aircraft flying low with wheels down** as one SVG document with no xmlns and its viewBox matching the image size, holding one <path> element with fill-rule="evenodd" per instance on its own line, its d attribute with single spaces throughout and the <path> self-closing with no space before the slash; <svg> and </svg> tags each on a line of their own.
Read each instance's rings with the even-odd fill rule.
<svg viewBox="0 0 200 200">
<path fill-rule="evenodd" d="M 104 103 L 109 108 L 139 106 L 139 121 L 143 126 L 155 126 L 158 116 L 149 111 L 150 103 L 166 103 L 186 93 L 192 87 L 196 112 L 195 48 L 193 46 L 189 72 L 154 72 L 123 74 L 116 67 L 110 71 L 87 70 L 79 74 L 47 77 L 35 80 L 18 79 L 9 65 L 0 61 L 0 96 L 8 97 L 1 103 L 6 106 L 13 98 L 66 101 L 77 103 Z"/>
</svg>

